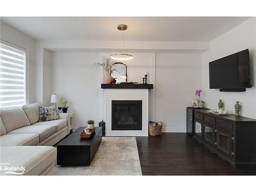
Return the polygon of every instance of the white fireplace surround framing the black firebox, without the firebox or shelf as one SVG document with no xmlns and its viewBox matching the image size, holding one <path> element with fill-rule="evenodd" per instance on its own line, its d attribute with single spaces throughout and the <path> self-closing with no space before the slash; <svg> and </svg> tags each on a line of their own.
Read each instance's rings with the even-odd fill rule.
<svg viewBox="0 0 256 192">
<path fill-rule="evenodd" d="M 106 136 L 148 136 L 148 89 L 104 89 Z M 142 100 L 142 130 L 111 130 L 112 100 Z"/>
</svg>

